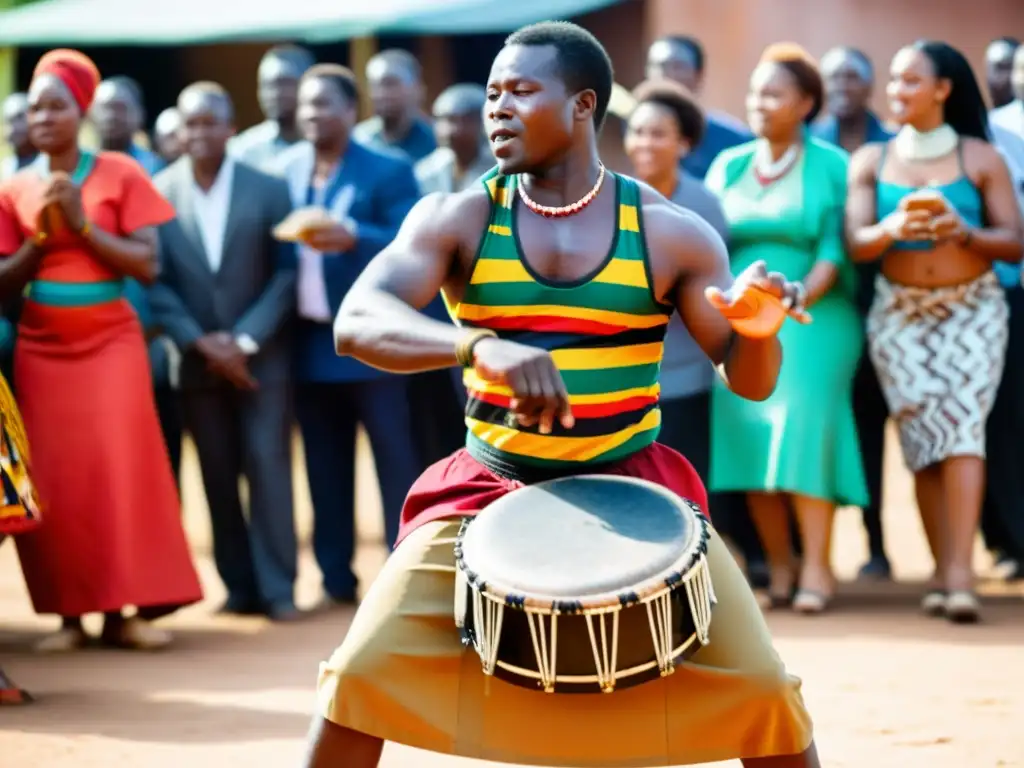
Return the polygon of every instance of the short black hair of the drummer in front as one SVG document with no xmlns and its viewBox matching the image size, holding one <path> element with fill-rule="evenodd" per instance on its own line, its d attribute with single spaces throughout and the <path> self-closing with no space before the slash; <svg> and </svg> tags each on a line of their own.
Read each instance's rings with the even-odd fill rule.
<svg viewBox="0 0 1024 768">
<path fill-rule="evenodd" d="M 615 74 L 608 52 L 596 37 L 570 22 L 541 22 L 513 32 L 505 45 L 554 48 L 565 87 L 572 93 L 592 90 L 597 95 L 594 125 L 600 129 L 608 114 Z"/>
</svg>

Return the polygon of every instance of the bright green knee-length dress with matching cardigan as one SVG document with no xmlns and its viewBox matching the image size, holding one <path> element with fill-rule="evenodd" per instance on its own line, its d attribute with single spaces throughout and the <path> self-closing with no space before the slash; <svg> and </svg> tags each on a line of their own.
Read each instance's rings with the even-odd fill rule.
<svg viewBox="0 0 1024 768">
<path fill-rule="evenodd" d="M 846 158 L 812 141 L 797 167 L 768 186 L 754 175 L 753 143 L 727 151 L 709 172 L 708 185 L 729 222 L 733 274 L 759 259 L 790 280 L 803 280 L 818 260 L 840 270 L 833 289 L 811 307 L 810 325 L 783 324 L 782 368 L 767 400 L 744 399 L 716 382 L 711 488 L 786 492 L 861 506 L 868 494 L 852 385 L 863 328 L 842 241 Z"/>
</svg>

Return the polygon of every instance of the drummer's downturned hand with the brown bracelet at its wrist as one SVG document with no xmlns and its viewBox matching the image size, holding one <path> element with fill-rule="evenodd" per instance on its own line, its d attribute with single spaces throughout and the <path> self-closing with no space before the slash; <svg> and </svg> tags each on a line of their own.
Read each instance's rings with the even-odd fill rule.
<svg viewBox="0 0 1024 768">
<path fill-rule="evenodd" d="M 565 382 L 547 350 L 484 338 L 473 346 L 473 370 L 512 390 L 509 409 L 521 426 L 538 424 L 541 434 L 550 434 L 556 420 L 565 429 L 575 424 Z"/>
</svg>

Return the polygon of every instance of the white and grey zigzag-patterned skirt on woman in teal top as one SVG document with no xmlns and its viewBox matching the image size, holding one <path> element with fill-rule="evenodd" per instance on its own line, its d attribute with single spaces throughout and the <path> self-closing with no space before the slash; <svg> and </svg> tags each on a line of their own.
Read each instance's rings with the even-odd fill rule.
<svg viewBox="0 0 1024 768">
<path fill-rule="evenodd" d="M 984 458 L 1009 317 L 992 272 L 942 288 L 878 278 L 868 351 L 911 471 L 953 456 Z"/>
</svg>

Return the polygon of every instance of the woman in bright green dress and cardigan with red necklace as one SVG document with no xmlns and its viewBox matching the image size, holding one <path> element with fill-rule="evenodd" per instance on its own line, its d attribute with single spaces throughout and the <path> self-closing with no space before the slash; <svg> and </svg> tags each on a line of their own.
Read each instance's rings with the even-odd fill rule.
<svg viewBox="0 0 1024 768">
<path fill-rule="evenodd" d="M 782 369 L 762 402 L 721 383 L 712 396 L 711 486 L 744 492 L 771 570 L 773 606 L 820 612 L 835 592 L 829 553 L 837 506 L 867 503 L 852 381 L 863 346 L 854 276 L 843 247 L 847 158 L 808 135 L 823 100 L 810 56 L 771 46 L 751 78 L 754 141 L 715 160 L 706 184 L 729 222 L 732 271 L 764 260 L 802 281 L 813 322 L 787 318 L 779 333 Z M 790 511 L 803 565 L 795 573 Z"/>
</svg>

